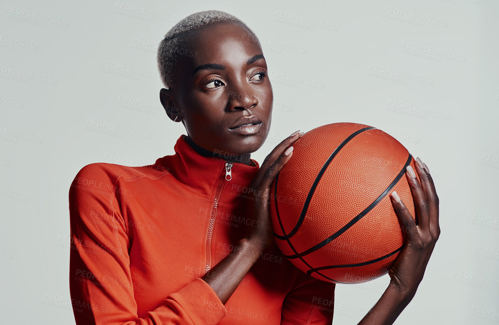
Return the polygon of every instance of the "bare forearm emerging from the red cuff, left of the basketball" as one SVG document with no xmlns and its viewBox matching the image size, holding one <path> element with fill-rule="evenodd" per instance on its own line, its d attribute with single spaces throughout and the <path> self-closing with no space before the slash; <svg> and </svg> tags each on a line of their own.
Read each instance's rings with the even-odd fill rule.
<svg viewBox="0 0 499 325">
<path fill-rule="evenodd" d="M 222 259 L 202 279 L 210 284 L 225 304 L 256 262 L 260 252 L 261 249 L 257 245 L 252 244 L 247 238 L 243 238 L 239 240 L 234 253 Z"/>
</svg>

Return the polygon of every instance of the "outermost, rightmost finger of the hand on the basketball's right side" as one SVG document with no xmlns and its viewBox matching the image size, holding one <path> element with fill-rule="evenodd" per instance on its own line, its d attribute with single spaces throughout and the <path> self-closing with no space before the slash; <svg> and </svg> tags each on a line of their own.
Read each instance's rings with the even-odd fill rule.
<svg viewBox="0 0 499 325">
<path fill-rule="evenodd" d="M 440 225 L 439 225 L 439 198 L 437 191 L 435 189 L 435 183 L 430 175 L 428 166 L 421 161 L 418 157 L 416 158 L 417 163 L 416 169 L 421 179 L 421 186 L 425 192 L 426 200 L 428 202 L 429 216 L 430 216 L 430 232 L 432 237 L 438 238 L 440 235 Z"/>
</svg>

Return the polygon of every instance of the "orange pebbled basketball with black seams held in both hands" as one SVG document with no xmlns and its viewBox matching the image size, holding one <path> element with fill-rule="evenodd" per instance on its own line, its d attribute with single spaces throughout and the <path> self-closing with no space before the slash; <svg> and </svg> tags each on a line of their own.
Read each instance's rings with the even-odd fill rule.
<svg viewBox="0 0 499 325">
<path fill-rule="evenodd" d="M 386 274 L 405 242 L 390 194 L 397 191 L 416 215 L 405 176 L 409 164 L 416 170 L 415 159 L 388 133 L 358 123 L 319 126 L 292 145 L 270 187 L 282 253 L 328 282 L 361 283 Z"/>
</svg>

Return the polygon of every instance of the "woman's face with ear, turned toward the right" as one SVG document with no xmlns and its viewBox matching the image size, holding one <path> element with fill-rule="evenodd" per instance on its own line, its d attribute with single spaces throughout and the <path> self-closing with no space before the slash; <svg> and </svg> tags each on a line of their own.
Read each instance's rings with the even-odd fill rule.
<svg viewBox="0 0 499 325">
<path fill-rule="evenodd" d="M 194 31 L 185 47 L 179 49 L 176 86 L 162 90 L 163 104 L 180 111 L 201 147 L 224 154 L 256 151 L 270 129 L 273 100 L 256 37 L 222 22 Z"/>
</svg>

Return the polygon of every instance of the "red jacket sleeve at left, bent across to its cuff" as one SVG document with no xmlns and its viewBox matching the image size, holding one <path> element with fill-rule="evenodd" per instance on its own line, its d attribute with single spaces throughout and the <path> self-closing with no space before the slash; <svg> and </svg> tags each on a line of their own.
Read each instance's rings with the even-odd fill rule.
<svg viewBox="0 0 499 325">
<path fill-rule="evenodd" d="M 138 317 L 116 177 L 92 163 L 69 189 L 69 289 L 76 324 L 217 324 L 227 310 L 201 278 L 165 294 L 157 308 Z M 215 304 L 222 307 L 210 312 L 207 306 Z"/>
</svg>

